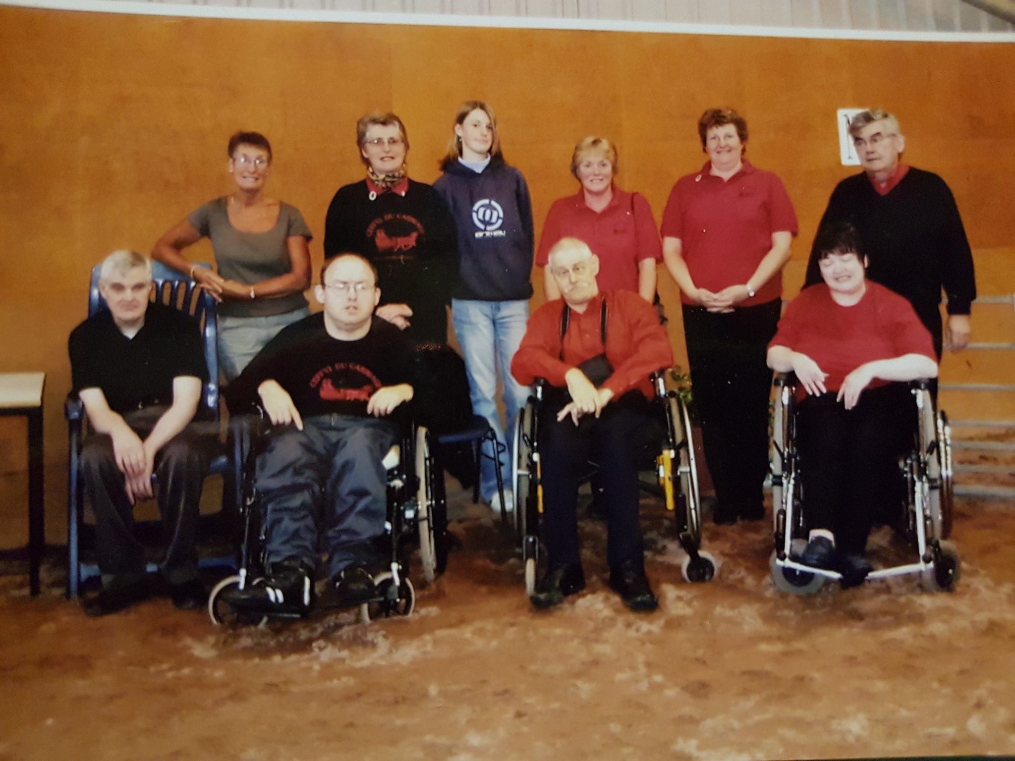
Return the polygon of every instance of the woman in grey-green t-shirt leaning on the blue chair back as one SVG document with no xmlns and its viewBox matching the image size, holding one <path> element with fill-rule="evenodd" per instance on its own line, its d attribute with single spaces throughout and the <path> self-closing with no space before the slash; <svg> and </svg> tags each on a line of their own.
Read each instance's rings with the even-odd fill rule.
<svg viewBox="0 0 1015 761">
<path fill-rule="evenodd" d="M 218 306 L 218 362 L 226 382 L 247 366 L 285 326 L 310 314 L 313 239 L 299 210 L 265 196 L 271 145 L 258 132 L 229 138 L 226 164 L 235 188 L 187 215 L 151 251 L 158 262 L 187 273 Z M 192 264 L 183 251 L 211 239 L 217 272 Z"/>
</svg>

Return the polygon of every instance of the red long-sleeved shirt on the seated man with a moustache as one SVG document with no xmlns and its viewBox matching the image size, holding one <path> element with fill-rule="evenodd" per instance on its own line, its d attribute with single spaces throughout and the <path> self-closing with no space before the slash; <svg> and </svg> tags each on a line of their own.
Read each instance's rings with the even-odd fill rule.
<svg viewBox="0 0 1015 761">
<path fill-rule="evenodd" d="M 615 397 L 637 389 L 652 398 L 650 375 L 673 364 L 673 349 L 656 310 L 636 293 L 612 291 L 593 298 L 584 313 L 571 309 L 560 359 L 560 316 L 567 308 L 558 298 L 540 306 L 529 318 L 511 371 L 523 386 L 543 377 L 551 386 L 565 387 L 564 374 L 587 359 L 603 353 L 600 335 L 602 299 L 606 299 L 606 358 L 613 374 L 603 384 Z"/>
</svg>

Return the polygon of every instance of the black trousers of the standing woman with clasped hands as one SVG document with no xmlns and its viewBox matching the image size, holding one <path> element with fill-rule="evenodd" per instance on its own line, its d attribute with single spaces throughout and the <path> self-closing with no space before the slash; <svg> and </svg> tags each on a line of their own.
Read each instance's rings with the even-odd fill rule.
<svg viewBox="0 0 1015 761">
<path fill-rule="evenodd" d="M 684 336 L 704 457 L 716 486 L 717 511 L 762 509 L 768 472 L 768 399 L 765 364 L 782 302 L 714 314 L 684 305 Z"/>
</svg>

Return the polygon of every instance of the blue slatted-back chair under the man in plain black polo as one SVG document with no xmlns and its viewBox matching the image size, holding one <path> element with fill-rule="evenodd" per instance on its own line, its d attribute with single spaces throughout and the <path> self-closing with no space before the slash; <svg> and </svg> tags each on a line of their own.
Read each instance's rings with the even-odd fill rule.
<svg viewBox="0 0 1015 761">
<path fill-rule="evenodd" d="M 89 317 L 99 309 L 108 308 L 106 301 L 98 292 L 99 269 L 99 265 L 91 269 L 91 282 L 88 288 Z M 218 323 L 215 314 L 215 300 L 188 276 L 157 262 L 152 264 L 152 279 L 155 284 L 153 289 L 153 298 L 155 301 L 181 309 L 196 318 L 201 323 L 204 358 L 208 365 L 209 379 L 204 385 L 201 396 L 201 409 L 198 411 L 198 415 L 203 416 L 205 419 L 219 421 Z M 82 582 L 98 575 L 98 566 L 96 563 L 85 561 L 81 557 L 82 533 L 85 533 L 86 527 L 83 520 L 84 489 L 79 476 L 79 463 L 87 416 L 84 413 L 84 405 L 76 394 L 71 394 L 67 398 L 67 402 L 64 405 L 64 413 L 67 418 L 69 434 L 67 597 L 75 598 L 78 596 Z M 236 512 L 242 499 L 243 454 L 247 451 L 246 439 L 248 437 L 245 431 L 246 428 L 244 426 L 230 424 L 223 451 L 215 458 L 208 471 L 209 475 L 222 476 L 222 512 L 219 515 L 225 515 L 226 518 Z M 230 547 L 231 544 L 230 542 Z M 201 558 L 200 565 L 202 567 L 235 567 L 235 561 L 234 552 L 230 549 L 227 556 Z M 149 564 L 148 570 L 149 572 L 155 570 L 153 564 Z"/>
</svg>

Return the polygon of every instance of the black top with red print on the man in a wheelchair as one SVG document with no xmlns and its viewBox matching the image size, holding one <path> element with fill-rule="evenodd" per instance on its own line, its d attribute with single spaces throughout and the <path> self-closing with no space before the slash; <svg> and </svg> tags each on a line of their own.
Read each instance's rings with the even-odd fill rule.
<svg viewBox="0 0 1015 761">
<path fill-rule="evenodd" d="M 414 347 L 391 323 L 375 317 L 369 332 L 356 341 L 328 335 L 324 314 L 284 328 L 229 385 L 230 408 L 248 409 L 260 400 L 258 387 L 277 382 L 300 416 L 358 415 L 383 386 L 413 384 Z"/>
</svg>

